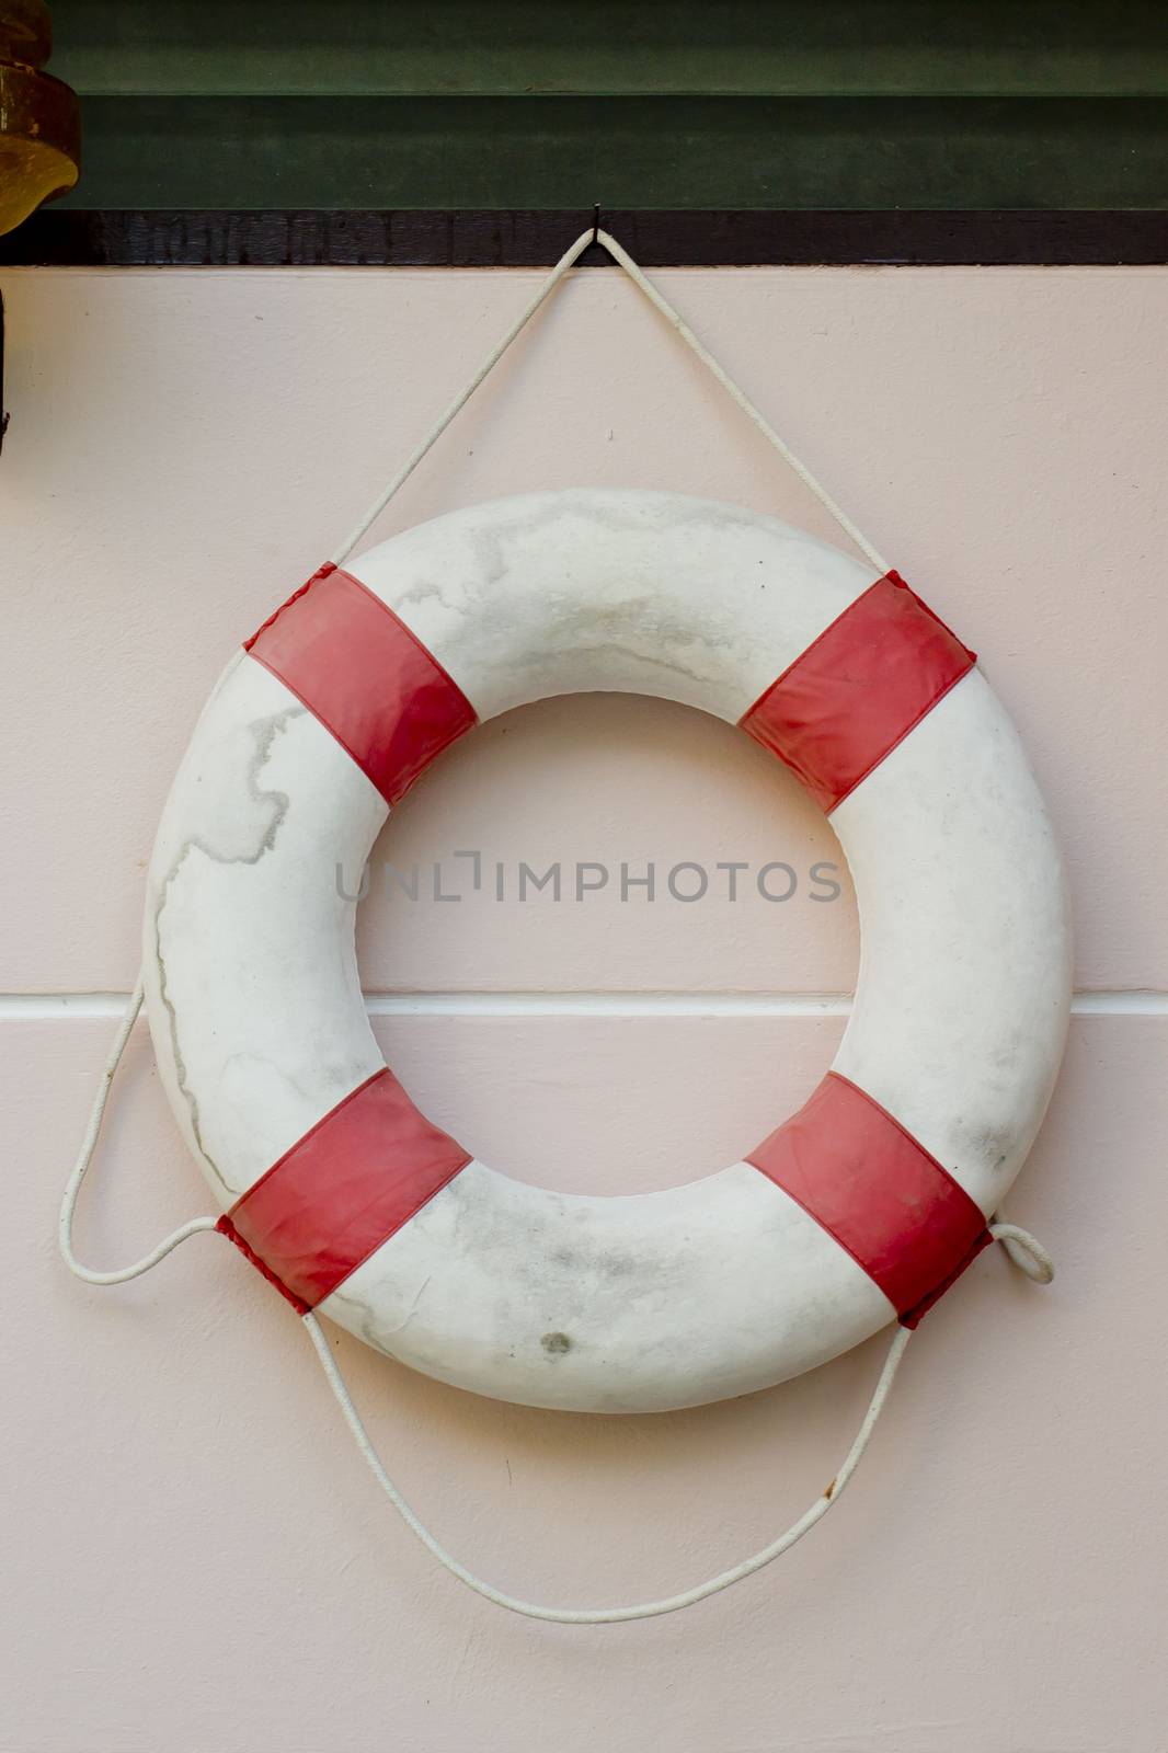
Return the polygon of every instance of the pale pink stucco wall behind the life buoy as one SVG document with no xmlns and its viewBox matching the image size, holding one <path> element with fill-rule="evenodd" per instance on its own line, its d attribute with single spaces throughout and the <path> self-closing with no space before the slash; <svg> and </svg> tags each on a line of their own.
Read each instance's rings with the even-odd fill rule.
<svg viewBox="0 0 1168 1753">
<path fill-rule="evenodd" d="M 528 273 L 7 272 L 4 1753 L 1154 1753 L 1166 1735 L 1161 270 L 670 272 L 670 295 L 937 610 L 1028 740 L 1077 908 L 1077 1017 L 1012 1213 L 929 1317 L 847 1501 L 694 1611 L 600 1630 L 466 1595 L 391 1518 L 289 1311 L 221 1243 L 149 1280 L 54 1253 L 144 862 L 191 720 L 528 296 Z M 616 273 L 580 273 L 386 519 L 544 486 L 673 487 L 828 533 Z M 830 829 L 744 738 L 580 698 L 475 733 L 379 859 L 477 848 L 805 871 Z M 582 905 L 388 898 L 361 924 L 416 1099 L 519 1176 L 633 1190 L 807 1092 L 856 959 L 847 887 Z M 824 1003 L 815 1003 L 826 996 Z M 207 1196 L 128 1055 L 82 1252 Z M 342 1339 L 407 1494 L 505 1586 L 682 1586 L 830 1478 L 882 1341 L 656 1418 L 507 1408 Z"/>
</svg>

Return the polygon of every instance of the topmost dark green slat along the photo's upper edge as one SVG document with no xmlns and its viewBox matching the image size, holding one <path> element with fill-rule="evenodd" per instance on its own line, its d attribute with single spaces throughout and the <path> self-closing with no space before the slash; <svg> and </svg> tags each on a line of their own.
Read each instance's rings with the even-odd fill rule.
<svg viewBox="0 0 1168 1753">
<path fill-rule="evenodd" d="M 139 95 L 1154 95 L 1147 0 L 53 0 L 53 70 Z"/>
</svg>

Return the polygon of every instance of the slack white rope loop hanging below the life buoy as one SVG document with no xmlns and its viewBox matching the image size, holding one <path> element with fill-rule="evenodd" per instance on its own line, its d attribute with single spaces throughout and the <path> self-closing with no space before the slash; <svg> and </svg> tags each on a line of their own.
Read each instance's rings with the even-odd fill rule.
<svg viewBox="0 0 1168 1753">
<path fill-rule="evenodd" d="M 303 1325 L 309 1329 L 309 1338 L 312 1339 L 316 1355 L 319 1357 L 321 1367 L 328 1376 L 328 1385 L 337 1395 L 337 1404 L 344 1413 L 344 1420 L 353 1432 L 353 1441 L 368 1462 L 374 1478 L 405 1522 L 410 1534 L 417 1536 L 426 1551 L 430 1551 L 438 1564 L 451 1572 L 451 1576 L 456 1576 L 459 1583 L 465 1583 L 466 1588 L 474 1588 L 474 1592 L 482 1595 L 486 1600 L 493 1600 L 496 1608 L 507 1608 L 509 1613 L 523 1613 L 528 1620 L 552 1620 L 556 1625 L 616 1625 L 619 1620 L 652 1620 L 661 1613 L 679 1613 L 682 1608 L 693 1608 L 694 1602 L 705 1600 L 709 1595 L 721 1593 L 723 1588 L 731 1588 L 745 1576 L 752 1576 L 756 1571 L 761 1571 L 763 1565 L 772 1564 L 775 1558 L 780 1558 L 784 1551 L 789 1551 L 791 1546 L 801 1541 L 817 1522 L 823 1522 L 828 1509 L 831 1509 L 831 1504 L 842 1497 L 847 1481 L 856 1473 L 856 1467 L 868 1448 L 872 1432 L 875 1430 L 877 1420 L 884 1411 L 884 1402 L 887 1401 L 893 1381 L 896 1380 L 896 1371 L 900 1369 L 900 1360 L 905 1355 L 905 1346 L 912 1338 L 908 1327 L 896 1329 L 893 1343 L 887 1348 L 887 1357 L 884 1359 L 884 1369 L 880 1371 L 872 1401 L 868 1402 L 868 1411 L 865 1413 L 863 1423 L 856 1432 L 856 1441 L 844 1458 L 844 1466 L 837 1473 L 831 1485 L 821 1492 L 810 1509 L 805 1509 L 798 1522 L 793 1522 L 786 1534 L 780 1534 L 779 1539 L 770 1543 L 770 1546 L 763 1546 L 763 1550 L 756 1551 L 754 1557 L 744 1558 L 742 1564 L 735 1564 L 728 1571 L 719 1571 L 717 1576 L 710 1576 L 705 1583 L 694 1583 L 693 1588 L 682 1590 L 680 1595 L 665 1595 L 661 1600 L 642 1600 L 630 1608 L 542 1608 L 535 1600 L 523 1600 L 517 1595 L 507 1595 L 502 1588 L 495 1588 L 493 1583 L 486 1583 L 481 1576 L 475 1576 L 474 1571 L 468 1571 L 465 1564 L 461 1564 L 445 1550 L 445 1546 L 440 1544 L 440 1541 L 433 1537 L 426 1523 L 421 1522 L 410 1509 L 386 1473 L 382 1460 L 370 1441 L 368 1430 L 361 1423 L 361 1416 L 353 1404 L 349 1388 L 345 1387 L 344 1376 L 337 1367 L 337 1360 L 333 1359 L 331 1348 L 316 1315 L 305 1315 Z"/>
</svg>

